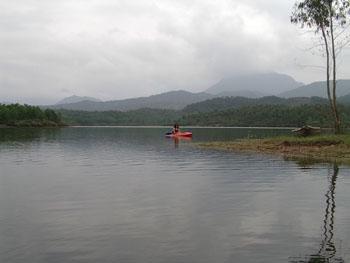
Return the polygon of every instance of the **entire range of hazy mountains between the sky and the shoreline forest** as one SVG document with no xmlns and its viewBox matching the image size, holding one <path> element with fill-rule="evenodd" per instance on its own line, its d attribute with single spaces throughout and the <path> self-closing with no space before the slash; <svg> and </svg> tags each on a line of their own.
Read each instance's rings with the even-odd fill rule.
<svg viewBox="0 0 350 263">
<path fill-rule="evenodd" d="M 130 111 L 144 108 L 210 111 L 237 108 L 240 105 L 253 105 L 254 103 L 287 105 L 323 103 L 321 98 L 314 97 L 326 98 L 325 82 L 313 82 L 299 87 L 301 84 L 288 75 L 261 73 L 223 79 L 207 89 L 207 92 L 192 93 L 177 90 L 149 97 L 105 102 L 91 97 L 71 96 L 61 100 L 58 104 L 47 107 L 78 111 Z M 297 88 L 291 89 L 291 87 Z M 267 95 L 270 93 L 278 93 L 278 95 Z M 350 80 L 338 81 L 337 95 L 339 103 L 350 103 Z M 349 96 L 344 97 L 344 95 Z M 258 98 L 261 99 L 258 100 Z M 285 101 L 284 98 L 295 99 Z"/>
</svg>

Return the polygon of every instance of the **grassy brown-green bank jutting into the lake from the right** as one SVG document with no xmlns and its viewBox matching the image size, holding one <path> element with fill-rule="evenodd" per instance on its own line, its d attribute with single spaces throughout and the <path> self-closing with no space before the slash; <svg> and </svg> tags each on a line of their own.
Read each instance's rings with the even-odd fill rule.
<svg viewBox="0 0 350 263">
<path fill-rule="evenodd" d="M 200 143 L 199 146 L 228 151 L 278 154 L 287 159 L 304 162 L 350 164 L 350 135 L 281 136 Z"/>
</svg>

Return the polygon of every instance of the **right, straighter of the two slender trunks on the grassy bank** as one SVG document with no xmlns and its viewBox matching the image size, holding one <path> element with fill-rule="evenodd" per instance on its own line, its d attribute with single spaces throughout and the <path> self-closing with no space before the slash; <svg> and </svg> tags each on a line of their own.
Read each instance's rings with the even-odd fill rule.
<svg viewBox="0 0 350 263">
<path fill-rule="evenodd" d="M 331 33 L 331 46 L 332 46 L 332 59 L 333 59 L 333 112 L 334 112 L 334 131 L 335 133 L 340 133 L 340 117 L 337 108 L 337 96 L 336 96 L 336 88 L 337 88 L 337 76 L 336 76 L 336 54 L 335 54 L 335 43 L 334 43 L 334 32 L 333 32 L 333 10 L 332 10 L 332 0 L 328 2 L 329 7 L 329 16 L 330 16 L 330 33 Z"/>
</svg>

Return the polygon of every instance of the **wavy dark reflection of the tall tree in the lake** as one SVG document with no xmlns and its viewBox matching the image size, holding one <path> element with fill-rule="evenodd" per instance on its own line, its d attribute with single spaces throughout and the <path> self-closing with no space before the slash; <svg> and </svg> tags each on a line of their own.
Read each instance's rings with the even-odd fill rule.
<svg viewBox="0 0 350 263">
<path fill-rule="evenodd" d="M 322 242 L 316 254 L 305 256 L 304 258 L 290 258 L 290 263 L 331 263 L 345 262 L 336 256 L 337 249 L 334 244 L 334 213 L 335 213 L 335 186 L 337 182 L 339 168 L 333 165 L 332 173 L 329 176 L 329 187 L 326 193 L 326 210 L 323 219 Z"/>
</svg>

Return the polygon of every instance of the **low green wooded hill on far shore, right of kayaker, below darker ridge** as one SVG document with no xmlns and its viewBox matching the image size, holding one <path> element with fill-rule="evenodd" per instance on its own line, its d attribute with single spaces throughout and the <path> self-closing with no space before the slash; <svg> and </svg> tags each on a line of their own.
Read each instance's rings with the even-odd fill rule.
<svg viewBox="0 0 350 263">
<path fill-rule="evenodd" d="M 350 107 L 340 107 L 344 125 L 350 121 Z M 255 105 L 225 111 L 183 115 L 182 125 L 236 127 L 330 127 L 332 116 L 328 105 Z"/>
</svg>

